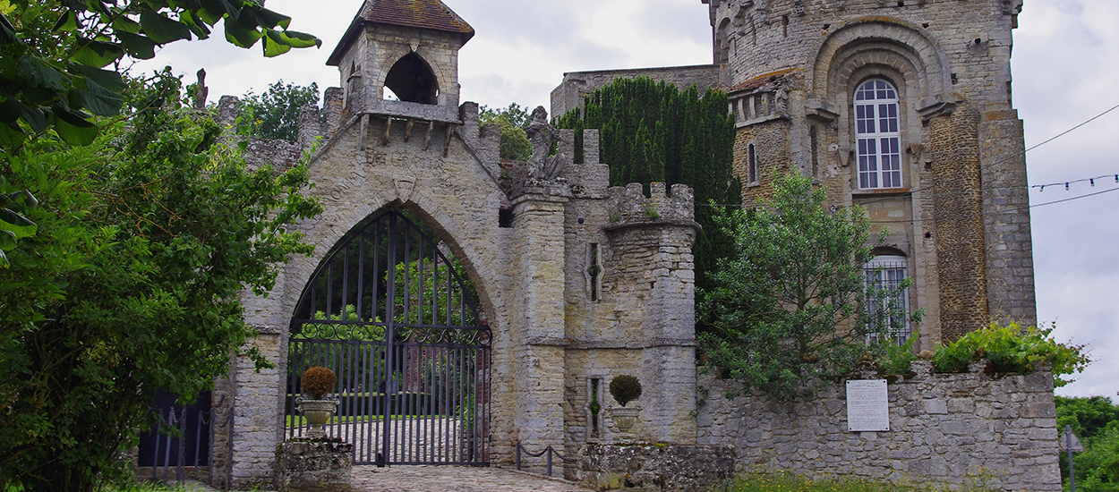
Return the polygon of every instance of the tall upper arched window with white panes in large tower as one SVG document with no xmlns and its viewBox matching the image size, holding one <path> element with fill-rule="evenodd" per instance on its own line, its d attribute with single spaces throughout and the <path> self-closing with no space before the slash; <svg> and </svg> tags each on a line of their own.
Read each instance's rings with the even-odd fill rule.
<svg viewBox="0 0 1119 492">
<path fill-rule="evenodd" d="M 897 89 L 890 82 L 874 78 L 855 89 L 859 189 L 902 188 L 897 113 Z"/>
</svg>

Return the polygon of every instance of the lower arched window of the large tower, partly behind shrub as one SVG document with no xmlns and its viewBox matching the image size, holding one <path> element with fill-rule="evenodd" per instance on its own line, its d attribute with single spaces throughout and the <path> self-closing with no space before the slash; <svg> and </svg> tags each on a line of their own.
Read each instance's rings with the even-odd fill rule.
<svg viewBox="0 0 1119 492">
<path fill-rule="evenodd" d="M 901 255 L 880 255 L 864 265 L 866 278 L 867 342 L 910 338 L 906 262 Z"/>
</svg>

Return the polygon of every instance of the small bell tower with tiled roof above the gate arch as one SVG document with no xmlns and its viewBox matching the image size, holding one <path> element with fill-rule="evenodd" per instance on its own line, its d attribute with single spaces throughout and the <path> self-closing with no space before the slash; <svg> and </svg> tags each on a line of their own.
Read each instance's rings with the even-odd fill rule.
<svg viewBox="0 0 1119 492">
<path fill-rule="evenodd" d="M 342 111 L 459 121 L 459 49 L 474 29 L 440 0 L 365 0 L 327 65 Z"/>
</svg>

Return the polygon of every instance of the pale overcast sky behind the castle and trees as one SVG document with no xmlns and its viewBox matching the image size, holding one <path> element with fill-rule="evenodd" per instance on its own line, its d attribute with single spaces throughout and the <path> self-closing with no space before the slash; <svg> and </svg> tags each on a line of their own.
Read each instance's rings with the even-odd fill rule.
<svg viewBox="0 0 1119 492">
<path fill-rule="evenodd" d="M 711 26 L 699 0 L 444 0 L 477 30 L 459 58 L 462 101 L 548 107 L 564 72 L 708 64 Z M 291 29 L 322 38 L 321 49 L 265 59 L 260 47 L 220 39 L 176 42 L 156 64 L 177 73 L 205 67 L 210 98 L 260 94 L 276 79 L 337 86 L 326 66 L 360 0 L 267 0 Z M 1033 146 L 1119 105 L 1119 1 L 1026 0 L 1014 34 L 1014 103 Z M 1069 396 L 1119 391 L 1119 110 L 1027 153 L 1038 319 L 1059 340 L 1091 346 L 1096 362 Z M 1089 182 L 1064 182 L 1107 176 Z"/>
</svg>

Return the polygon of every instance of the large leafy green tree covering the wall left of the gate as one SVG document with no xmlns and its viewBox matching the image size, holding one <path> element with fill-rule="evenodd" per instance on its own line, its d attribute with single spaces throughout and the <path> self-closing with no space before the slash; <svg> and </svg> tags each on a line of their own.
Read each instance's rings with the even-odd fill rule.
<svg viewBox="0 0 1119 492">
<path fill-rule="evenodd" d="M 320 211 L 305 165 L 247 169 L 179 91 L 169 72 L 131 82 L 128 124 L 84 146 L 44 134 L 0 161 L 0 193 L 39 201 L 23 210 L 37 234 L 0 269 L 0 489 L 122 476 L 150 395 L 208 389 L 255 334 L 241 292 L 270 291 L 313 248 L 289 229 Z"/>
</svg>

